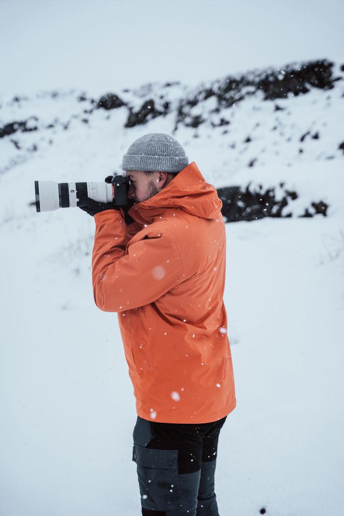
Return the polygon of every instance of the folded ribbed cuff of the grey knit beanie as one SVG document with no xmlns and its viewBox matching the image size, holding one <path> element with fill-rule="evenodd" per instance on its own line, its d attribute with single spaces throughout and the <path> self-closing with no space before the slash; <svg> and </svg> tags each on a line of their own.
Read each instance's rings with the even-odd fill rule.
<svg viewBox="0 0 344 516">
<path fill-rule="evenodd" d="M 141 172 L 180 172 L 189 165 L 187 156 L 147 156 L 146 154 L 124 154 L 122 169 Z"/>
</svg>

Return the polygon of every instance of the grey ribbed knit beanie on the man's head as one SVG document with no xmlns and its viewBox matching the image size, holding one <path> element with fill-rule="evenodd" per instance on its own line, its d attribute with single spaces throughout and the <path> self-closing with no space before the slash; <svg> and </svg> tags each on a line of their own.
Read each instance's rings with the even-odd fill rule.
<svg viewBox="0 0 344 516">
<path fill-rule="evenodd" d="M 180 172 L 189 160 L 180 143 L 165 133 L 150 133 L 134 141 L 123 156 L 122 169 Z"/>
</svg>

